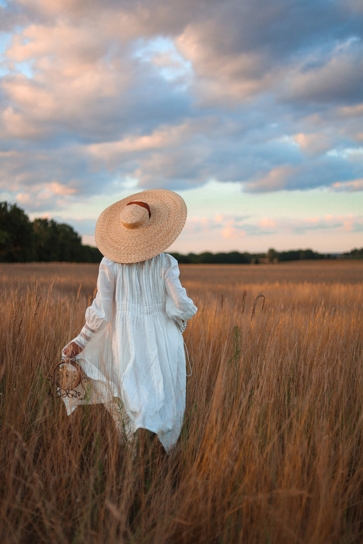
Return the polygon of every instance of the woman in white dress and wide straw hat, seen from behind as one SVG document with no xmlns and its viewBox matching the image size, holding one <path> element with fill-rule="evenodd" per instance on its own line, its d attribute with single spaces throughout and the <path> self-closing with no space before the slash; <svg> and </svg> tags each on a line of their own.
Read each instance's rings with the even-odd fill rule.
<svg viewBox="0 0 363 544">
<path fill-rule="evenodd" d="M 103 403 L 120 437 L 149 429 L 167 452 L 184 415 L 182 332 L 197 308 L 180 284 L 177 261 L 163 251 L 186 217 L 181 196 L 165 189 L 131 195 L 102 212 L 97 295 L 82 331 L 63 350 L 66 358 L 76 356 L 90 384 L 84 400 L 64 397 L 68 414 L 84 402 Z"/>
</svg>

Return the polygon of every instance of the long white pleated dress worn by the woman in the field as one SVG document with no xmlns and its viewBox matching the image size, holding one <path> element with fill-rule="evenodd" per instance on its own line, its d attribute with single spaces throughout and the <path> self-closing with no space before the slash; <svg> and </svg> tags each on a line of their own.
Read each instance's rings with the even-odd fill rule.
<svg viewBox="0 0 363 544">
<path fill-rule="evenodd" d="M 89 379 L 87 397 L 64 397 L 68 415 L 78 404 L 103 403 L 120 438 L 149 429 L 169 452 L 185 409 L 182 322 L 196 310 L 171 255 L 132 264 L 104 257 L 96 298 L 74 339 L 84 348 L 76 358 Z"/>
</svg>

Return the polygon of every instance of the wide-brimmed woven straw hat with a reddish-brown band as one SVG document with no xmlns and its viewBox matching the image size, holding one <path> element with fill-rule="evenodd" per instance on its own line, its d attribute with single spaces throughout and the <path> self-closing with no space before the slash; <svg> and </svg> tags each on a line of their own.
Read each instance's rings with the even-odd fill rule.
<svg viewBox="0 0 363 544">
<path fill-rule="evenodd" d="M 149 189 L 115 202 L 100 215 L 97 248 L 116 263 L 137 263 L 169 248 L 182 231 L 187 206 L 168 189 Z"/>
</svg>

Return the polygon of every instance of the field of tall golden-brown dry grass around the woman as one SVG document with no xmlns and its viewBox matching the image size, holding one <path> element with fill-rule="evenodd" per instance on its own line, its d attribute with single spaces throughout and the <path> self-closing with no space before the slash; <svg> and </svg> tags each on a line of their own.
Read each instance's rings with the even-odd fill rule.
<svg viewBox="0 0 363 544">
<path fill-rule="evenodd" d="M 2 541 L 362 542 L 363 262 L 180 268 L 183 430 L 134 456 L 102 406 L 47 394 L 97 266 L 0 265 Z"/>
</svg>

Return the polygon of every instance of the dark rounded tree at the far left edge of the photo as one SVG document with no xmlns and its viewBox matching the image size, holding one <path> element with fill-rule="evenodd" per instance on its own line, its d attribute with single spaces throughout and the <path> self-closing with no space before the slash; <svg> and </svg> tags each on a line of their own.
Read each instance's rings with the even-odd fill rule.
<svg viewBox="0 0 363 544">
<path fill-rule="evenodd" d="M 0 202 L 0 261 L 7 263 L 33 260 L 33 226 L 16 204 Z"/>
</svg>

